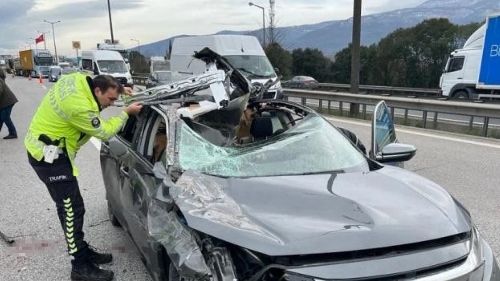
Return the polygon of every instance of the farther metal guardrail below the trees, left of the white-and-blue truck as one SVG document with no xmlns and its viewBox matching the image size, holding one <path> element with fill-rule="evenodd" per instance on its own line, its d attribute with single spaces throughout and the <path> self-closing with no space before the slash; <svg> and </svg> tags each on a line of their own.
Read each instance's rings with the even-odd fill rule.
<svg viewBox="0 0 500 281">
<path fill-rule="evenodd" d="M 333 84 L 333 83 L 318 83 L 319 89 L 328 90 L 343 90 L 348 91 L 350 84 Z M 440 89 L 427 89 L 427 88 L 404 88 L 404 87 L 390 87 L 390 86 L 372 86 L 372 85 L 359 85 L 359 91 L 365 93 L 392 93 L 392 94 L 406 94 L 417 96 L 439 96 Z"/>
</svg>

